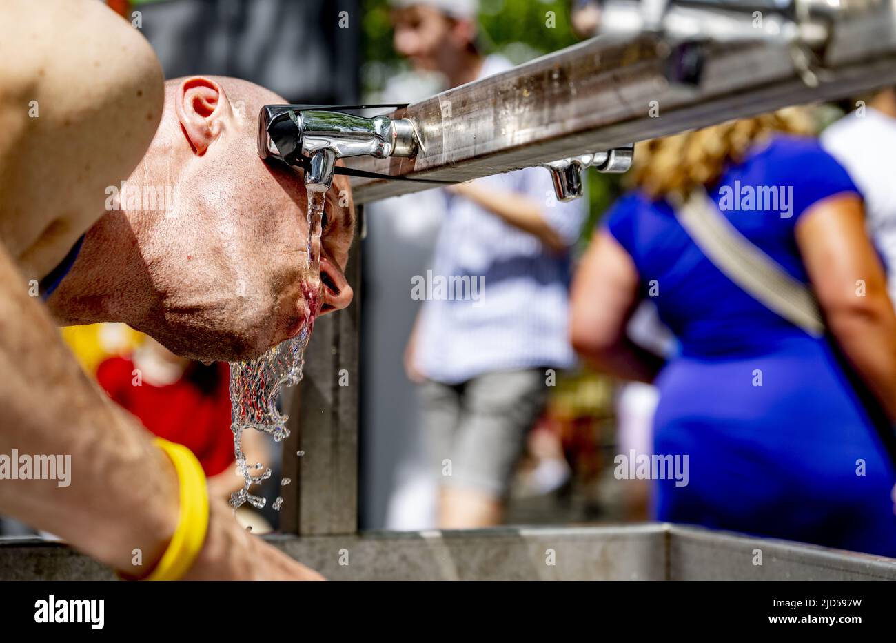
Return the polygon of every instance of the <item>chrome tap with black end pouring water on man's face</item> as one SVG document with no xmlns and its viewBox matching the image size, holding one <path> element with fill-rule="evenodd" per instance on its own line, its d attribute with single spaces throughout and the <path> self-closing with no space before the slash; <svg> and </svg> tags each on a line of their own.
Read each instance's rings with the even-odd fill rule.
<svg viewBox="0 0 896 643">
<path fill-rule="evenodd" d="M 258 118 L 259 156 L 302 167 L 308 190 L 330 188 L 336 159 L 417 154 L 418 136 L 409 118 L 365 118 L 313 107 L 266 105 Z"/>
</svg>

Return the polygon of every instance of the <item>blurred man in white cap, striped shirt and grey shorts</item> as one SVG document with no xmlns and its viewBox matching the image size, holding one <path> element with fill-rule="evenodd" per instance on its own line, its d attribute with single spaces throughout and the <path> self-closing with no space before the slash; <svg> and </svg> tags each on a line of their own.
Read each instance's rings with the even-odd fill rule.
<svg viewBox="0 0 896 643">
<path fill-rule="evenodd" d="M 450 86 L 509 69 L 476 45 L 477 3 L 397 0 L 395 48 Z M 543 168 L 442 191 L 435 279 L 482 286 L 477 300 L 427 298 L 406 350 L 420 382 L 431 473 L 441 485 L 438 525 L 501 522 L 526 433 L 547 397 L 547 369 L 573 365 L 565 336 L 570 247 L 582 202 L 559 203 Z"/>
</svg>

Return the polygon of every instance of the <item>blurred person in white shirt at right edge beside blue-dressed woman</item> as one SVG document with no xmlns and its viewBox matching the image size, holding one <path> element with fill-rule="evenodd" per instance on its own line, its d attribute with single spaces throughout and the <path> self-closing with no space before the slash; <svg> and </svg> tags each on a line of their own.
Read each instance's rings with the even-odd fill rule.
<svg viewBox="0 0 896 643">
<path fill-rule="evenodd" d="M 866 225 L 889 274 L 896 302 L 896 88 L 877 92 L 865 107 L 843 116 L 822 133 L 822 144 L 843 164 L 865 198 Z"/>
</svg>

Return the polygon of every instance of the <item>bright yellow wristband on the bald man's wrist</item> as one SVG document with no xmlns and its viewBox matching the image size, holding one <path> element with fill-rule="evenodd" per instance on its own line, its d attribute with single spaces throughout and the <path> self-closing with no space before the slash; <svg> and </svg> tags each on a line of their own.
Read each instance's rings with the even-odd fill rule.
<svg viewBox="0 0 896 643">
<path fill-rule="evenodd" d="M 179 580 L 193 566 L 205 543 L 209 528 L 209 490 L 202 465 L 183 444 L 162 438 L 152 441 L 168 454 L 180 483 L 180 510 L 177 528 L 159 564 L 144 580 Z"/>
</svg>

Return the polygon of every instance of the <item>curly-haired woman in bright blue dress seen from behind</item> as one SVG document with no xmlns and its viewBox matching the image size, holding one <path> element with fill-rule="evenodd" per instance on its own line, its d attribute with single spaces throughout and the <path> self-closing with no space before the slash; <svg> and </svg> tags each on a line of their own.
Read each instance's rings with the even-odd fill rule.
<svg viewBox="0 0 896 643">
<path fill-rule="evenodd" d="M 896 314 L 856 185 L 792 123 L 760 116 L 637 150 L 635 189 L 608 212 L 573 284 L 573 346 L 659 388 L 654 452 L 686 455 L 689 468 L 686 485 L 657 481 L 659 520 L 896 557 L 896 472 L 882 438 L 896 424 Z M 702 253 L 669 204 L 695 189 L 812 287 L 827 338 Z M 645 297 L 679 340 L 666 364 L 625 337 Z"/>
</svg>

